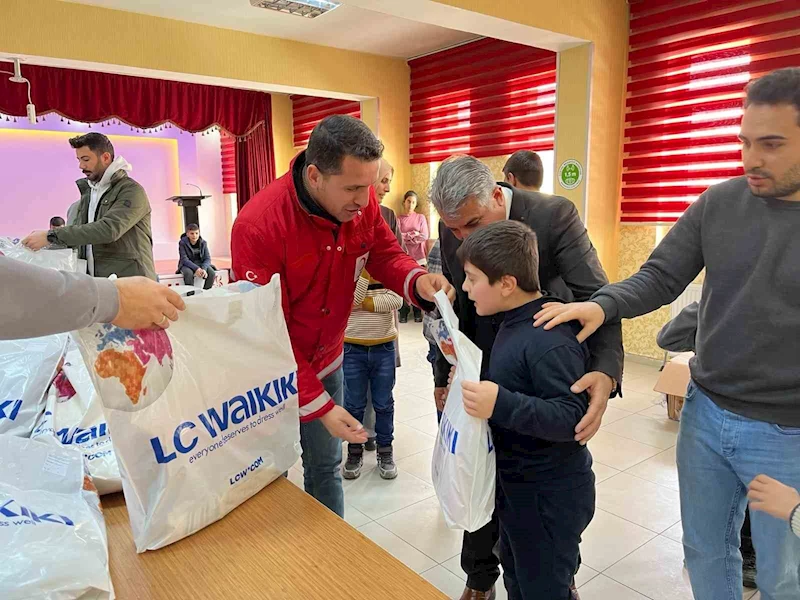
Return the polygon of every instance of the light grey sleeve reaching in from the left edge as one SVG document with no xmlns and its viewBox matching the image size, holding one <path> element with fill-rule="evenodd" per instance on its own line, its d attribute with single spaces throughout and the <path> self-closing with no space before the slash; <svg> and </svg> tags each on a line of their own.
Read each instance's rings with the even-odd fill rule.
<svg viewBox="0 0 800 600">
<path fill-rule="evenodd" d="M 0 255 L 0 339 L 23 339 L 108 323 L 119 312 L 108 279 L 43 269 Z"/>
</svg>

